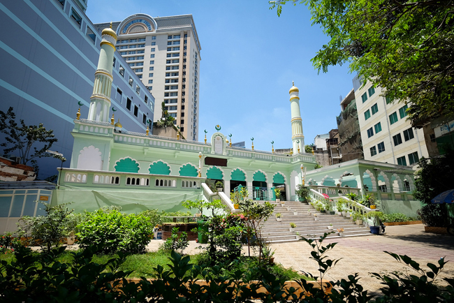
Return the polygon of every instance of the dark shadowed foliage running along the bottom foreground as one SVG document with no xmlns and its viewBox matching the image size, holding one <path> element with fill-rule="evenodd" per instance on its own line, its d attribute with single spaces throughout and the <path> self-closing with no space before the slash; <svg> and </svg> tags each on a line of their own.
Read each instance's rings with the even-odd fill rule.
<svg viewBox="0 0 454 303">
<path fill-rule="evenodd" d="M 325 253 L 335 244 L 323 246 L 323 239 L 304 239 L 313 251 L 312 259 L 318 263 L 318 281 L 337 260 L 330 260 Z M 93 261 L 96 247 L 71 252 L 73 263 L 57 260 L 64 247 L 52 249 L 49 253 L 33 253 L 19 247 L 15 251 L 17 261 L 8 264 L 1 261 L 0 302 L 250 302 L 252 298 L 262 302 L 453 302 L 454 279 L 445 278 L 448 286 L 437 285 L 437 275 L 446 264 L 444 258 L 438 265 L 428 263 L 422 269 L 408 256 L 388 253 L 398 262 L 407 265 L 413 274 L 393 273 L 373 274 L 383 283 L 381 293 L 372 297 L 358 283 L 358 274 L 347 279 L 331 282 L 335 286 L 332 293 L 325 293 L 316 284 L 299 280 L 311 296 L 297 295 L 294 288 L 284 288 L 284 279 L 267 269 L 258 268 L 259 281 L 251 281 L 251 271 L 237 269 L 230 276 L 223 269 L 213 266 L 193 265 L 190 257 L 182 257 L 173 251 L 168 267 L 154 267 L 155 279 L 140 279 L 131 283 L 125 277 L 131 272 L 119 269 L 126 260 L 126 254 L 117 253 L 118 258 L 109 258 L 105 263 Z M 197 279 L 202 277 L 208 283 L 202 285 Z M 266 293 L 258 293 L 264 287 Z"/>
</svg>

